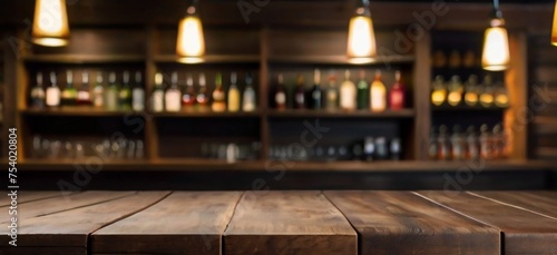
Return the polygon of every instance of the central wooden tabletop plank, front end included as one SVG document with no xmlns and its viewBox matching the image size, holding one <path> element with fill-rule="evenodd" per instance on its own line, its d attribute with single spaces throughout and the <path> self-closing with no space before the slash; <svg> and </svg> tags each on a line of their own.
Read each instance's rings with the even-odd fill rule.
<svg viewBox="0 0 557 255">
<path fill-rule="evenodd" d="M 356 254 L 350 223 L 320 192 L 246 192 L 224 234 L 225 254 Z"/>
</svg>

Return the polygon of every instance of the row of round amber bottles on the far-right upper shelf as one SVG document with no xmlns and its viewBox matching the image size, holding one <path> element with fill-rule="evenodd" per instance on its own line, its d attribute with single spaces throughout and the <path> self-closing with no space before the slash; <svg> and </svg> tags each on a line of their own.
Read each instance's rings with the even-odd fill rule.
<svg viewBox="0 0 557 255">
<path fill-rule="evenodd" d="M 506 108 L 509 106 L 509 96 L 502 82 L 492 85 L 490 76 L 486 76 L 481 85 L 478 84 L 476 75 L 469 76 L 465 85 L 459 76 L 452 76 L 449 81 L 444 81 L 442 76 L 437 76 L 432 82 L 431 104 Z"/>
</svg>

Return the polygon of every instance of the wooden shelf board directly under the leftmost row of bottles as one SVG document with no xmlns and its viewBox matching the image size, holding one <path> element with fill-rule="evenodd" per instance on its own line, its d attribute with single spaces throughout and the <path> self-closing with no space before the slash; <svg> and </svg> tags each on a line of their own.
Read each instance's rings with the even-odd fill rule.
<svg viewBox="0 0 557 255">
<path fill-rule="evenodd" d="M 77 116 L 77 117 L 119 117 L 125 115 L 141 115 L 143 112 L 133 110 L 106 110 L 104 108 L 76 106 L 59 108 L 28 108 L 20 111 L 23 115 L 31 116 Z"/>
</svg>

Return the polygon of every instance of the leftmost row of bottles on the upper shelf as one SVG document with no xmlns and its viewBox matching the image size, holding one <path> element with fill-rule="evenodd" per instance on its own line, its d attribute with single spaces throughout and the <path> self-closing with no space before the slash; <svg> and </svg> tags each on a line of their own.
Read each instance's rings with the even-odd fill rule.
<svg viewBox="0 0 557 255">
<path fill-rule="evenodd" d="M 145 89 L 141 72 L 135 73 L 134 85 L 130 85 L 129 71 L 121 73 L 123 84 L 116 80 L 116 72 L 108 75 L 108 86 L 105 86 L 102 72 L 97 72 L 96 85 L 90 89 L 89 72 L 81 73 L 81 86 L 76 88 L 74 72 L 66 71 L 66 86 L 60 89 L 56 72 L 50 72 L 50 85 L 45 89 L 42 72 L 37 72 L 36 86 L 30 91 L 30 105 L 33 108 L 94 106 L 106 110 L 144 110 Z"/>
</svg>

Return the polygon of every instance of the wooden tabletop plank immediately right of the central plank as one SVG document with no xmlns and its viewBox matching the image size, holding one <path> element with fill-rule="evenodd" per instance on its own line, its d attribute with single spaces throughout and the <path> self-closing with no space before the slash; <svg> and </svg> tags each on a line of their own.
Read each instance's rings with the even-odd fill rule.
<svg viewBox="0 0 557 255">
<path fill-rule="evenodd" d="M 499 254 L 499 229 L 409 192 L 324 192 L 360 236 L 360 254 Z M 403 245 L 401 245 L 403 244 Z"/>
</svg>

